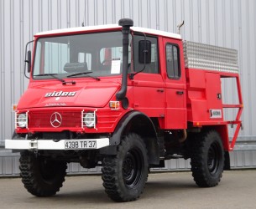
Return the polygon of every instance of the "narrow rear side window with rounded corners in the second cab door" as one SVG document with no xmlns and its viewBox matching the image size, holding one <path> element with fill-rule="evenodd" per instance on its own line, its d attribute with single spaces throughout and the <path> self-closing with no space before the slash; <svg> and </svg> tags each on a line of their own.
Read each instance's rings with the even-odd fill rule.
<svg viewBox="0 0 256 209">
<path fill-rule="evenodd" d="M 170 79 L 180 79 L 180 50 L 177 45 L 167 43 L 165 48 L 166 69 Z"/>
</svg>

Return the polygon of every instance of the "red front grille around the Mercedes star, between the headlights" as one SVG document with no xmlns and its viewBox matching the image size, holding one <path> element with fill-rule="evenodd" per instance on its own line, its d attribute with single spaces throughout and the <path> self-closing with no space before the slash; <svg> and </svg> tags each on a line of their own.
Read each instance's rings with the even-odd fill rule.
<svg viewBox="0 0 256 209">
<path fill-rule="evenodd" d="M 29 112 L 29 128 L 52 128 L 50 118 L 55 112 Z M 81 111 L 58 111 L 62 121 L 59 127 L 81 127 Z"/>
</svg>

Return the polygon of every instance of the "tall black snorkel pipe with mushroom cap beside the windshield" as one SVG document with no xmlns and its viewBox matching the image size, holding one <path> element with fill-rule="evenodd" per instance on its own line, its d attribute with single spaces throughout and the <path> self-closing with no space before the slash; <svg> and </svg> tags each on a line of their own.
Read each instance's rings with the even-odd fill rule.
<svg viewBox="0 0 256 209">
<path fill-rule="evenodd" d="M 123 75 L 121 89 L 116 94 L 118 100 L 122 100 L 126 96 L 127 79 L 128 79 L 128 45 L 130 27 L 133 26 L 133 20 L 128 18 L 120 19 L 118 25 L 122 26 L 123 33 Z"/>
</svg>

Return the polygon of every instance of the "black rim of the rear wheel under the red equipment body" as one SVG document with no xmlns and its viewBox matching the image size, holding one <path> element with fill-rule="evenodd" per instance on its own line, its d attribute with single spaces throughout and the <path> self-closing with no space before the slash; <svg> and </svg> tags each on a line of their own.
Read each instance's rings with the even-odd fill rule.
<svg viewBox="0 0 256 209">
<path fill-rule="evenodd" d="M 216 174 L 220 165 L 222 158 L 220 150 L 220 145 L 218 145 L 217 142 L 213 142 L 208 151 L 207 164 L 208 169 L 212 175 Z"/>
</svg>

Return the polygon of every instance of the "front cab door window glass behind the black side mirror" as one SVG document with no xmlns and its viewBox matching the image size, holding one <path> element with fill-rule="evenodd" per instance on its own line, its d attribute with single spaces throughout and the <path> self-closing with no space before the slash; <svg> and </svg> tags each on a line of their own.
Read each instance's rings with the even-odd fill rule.
<svg viewBox="0 0 256 209">
<path fill-rule="evenodd" d="M 157 38 L 146 37 L 147 40 L 151 42 L 151 63 L 146 64 L 144 69 L 144 64 L 138 62 L 138 42 L 144 40 L 142 35 L 134 35 L 133 37 L 133 60 L 134 60 L 134 71 L 138 72 L 144 69 L 143 73 L 146 74 L 159 74 L 159 57 L 158 57 L 158 43 Z"/>
</svg>

